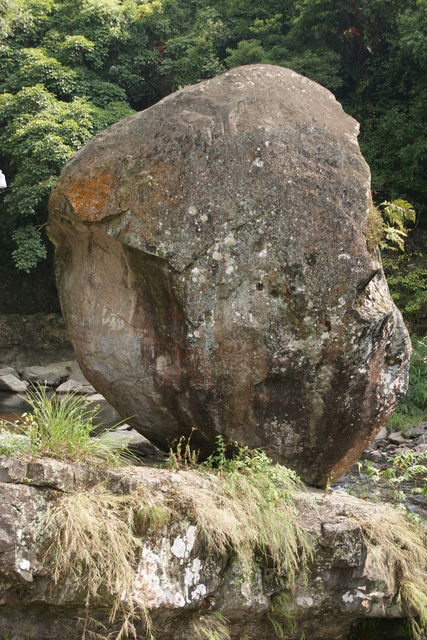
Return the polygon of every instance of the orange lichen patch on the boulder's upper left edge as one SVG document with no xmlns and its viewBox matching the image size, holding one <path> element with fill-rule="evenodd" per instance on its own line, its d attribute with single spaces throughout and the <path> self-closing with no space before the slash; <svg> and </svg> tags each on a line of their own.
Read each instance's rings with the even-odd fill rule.
<svg viewBox="0 0 427 640">
<path fill-rule="evenodd" d="M 99 222 L 115 210 L 116 177 L 103 171 L 60 178 L 56 193 L 66 197 L 75 215 L 85 222 Z"/>
</svg>

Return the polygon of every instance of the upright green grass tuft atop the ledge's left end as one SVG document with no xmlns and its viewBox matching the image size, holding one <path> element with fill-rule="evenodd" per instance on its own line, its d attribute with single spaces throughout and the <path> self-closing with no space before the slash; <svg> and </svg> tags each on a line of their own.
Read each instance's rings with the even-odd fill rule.
<svg viewBox="0 0 427 640">
<path fill-rule="evenodd" d="M 85 397 L 77 394 L 49 397 L 46 389 L 39 386 L 30 389 L 25 400 L 31 411 L 22 416 L 20 424 L 16 422 L 9 426 L 29 438 L 32 456 L 112 466 L 133 459 L 123 442 L 109 439 L 108 435 L 91 437 L 93 419 L 98 415 L 99 407 L 91 407 Z M 17 446 L 13 450 L 9 447 L 9 455 L 28 455 L 28 448 L 20 446 L 16 435 L 10 441 L 11 445 L 13 441 Z"/>
</svg>

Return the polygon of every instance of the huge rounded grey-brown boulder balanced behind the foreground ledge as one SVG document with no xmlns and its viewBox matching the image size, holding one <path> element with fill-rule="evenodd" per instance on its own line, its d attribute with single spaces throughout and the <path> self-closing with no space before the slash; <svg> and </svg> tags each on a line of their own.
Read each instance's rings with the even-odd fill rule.
<svg viewBox="0 0 427 640">
<path fill-rule="evenodd" d="M 98 135 L 49 234 L 76 357 L 155 444 L 222 434 L 337 478 L 406 391 L 410 343 L 366 226 L 357 123 L 318 84 L 239 67 Z"/>
</svg>

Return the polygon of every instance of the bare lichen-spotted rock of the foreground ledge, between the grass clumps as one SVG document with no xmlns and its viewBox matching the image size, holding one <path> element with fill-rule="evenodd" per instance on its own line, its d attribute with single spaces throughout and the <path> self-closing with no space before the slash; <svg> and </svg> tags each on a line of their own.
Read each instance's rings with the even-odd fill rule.
<svg viewBox="0 0 427 640">
<path fill-rule="evenodd" d="M 139 487 L 154 501 L 160 495 L 177 503 L 184 486 L 197 493 L 204 482 L 198 473 L 139 468 L 120 474 L 56 460 L 26 463 L 0 458 L 0 636 L 81 637 L 79 625 L 87 619 L 83 586 L 71 573 L 55 584 L 53 567 L 43 560 L 46 541 L 40 529 L 46 510 L 67 492 L 87 492 L 102 483 L 116 494 Z M 280 636 L 284 638 L 299 640 L 304 632 L 310 640 L 339 640 L 365 617 L 404 615 L 397 597 L 399 572 L 390 565 L 389 584 L 381 581 L 375 568 L 378 549 L 366 547 L 361 535 L 360 523 L 371 528 L 385 507 L 342 493 L 323 496 L 319 491 L 299 494 L 295 501 L 301 525 L 313 536 L 314 559 L 308 582 L 297 577 L 294 593 L 277 567 L 261 560 L 253 579 L 245 580 L 231 554 L 206 548 L 190 512 L 177 514 L 161 534 L 153 535 L 150 529 L 140 532 L 135 597 L 148 604 L 156 637 L 196 640 L 200 635 L 192 633 L 192 620 L 220 612 L 229 621 L 232 640 L 244 634 L 269 640 L 275 637 L 271 604 L 283 592 L 296 624 L 293 632 L 285 625 L 286 633 Z M 108 624 L 110 605 L 101 591 L 96 608 L 88 613 L 113 632 Z"/>
</svg>

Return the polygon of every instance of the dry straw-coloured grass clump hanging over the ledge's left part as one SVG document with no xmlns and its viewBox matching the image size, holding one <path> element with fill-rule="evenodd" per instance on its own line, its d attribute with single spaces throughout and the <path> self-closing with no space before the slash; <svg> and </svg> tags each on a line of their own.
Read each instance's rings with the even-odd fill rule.
<svg viewBox="0 0 427 640">
<path fill-rule="evenodd" d="M 142 491 L 114 495 L 97 486 L 62 496 L 40 524 L 40 535 L 48 540 L 45 560 L 53 566 L 55 583 L 71 576 L 84 594 L 87 612 L 100 601 L 109 601 L 110 624 L 119 623 L 117 640 L 137 638 L 138 620 L 153 637 L 147 606 L 133 595 L 142 546 L 138 534 L 146 527 L 159 530 L 170 516 L 161 495 L 154 498 Z M 89 622 L 87 616 L 83 638 Z"/>
</svg>

